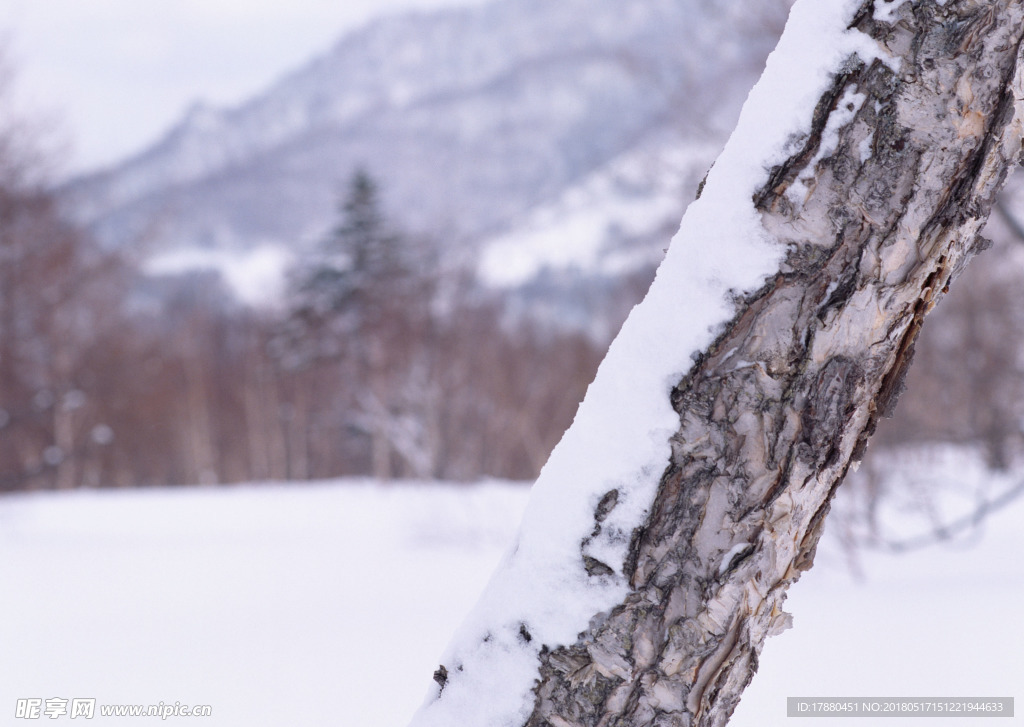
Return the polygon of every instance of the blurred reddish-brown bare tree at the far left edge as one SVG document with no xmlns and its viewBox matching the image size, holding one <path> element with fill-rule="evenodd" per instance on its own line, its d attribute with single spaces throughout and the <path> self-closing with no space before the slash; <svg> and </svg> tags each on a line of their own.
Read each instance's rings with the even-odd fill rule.
<svg viewBox="0 0 1024 727">
<path fill-rule="evenodd" d="M 92 358 L 123 270 L 6 163 L 0 147 L 0 488 L 71 487 L 108 439 Z"/>
</svg>

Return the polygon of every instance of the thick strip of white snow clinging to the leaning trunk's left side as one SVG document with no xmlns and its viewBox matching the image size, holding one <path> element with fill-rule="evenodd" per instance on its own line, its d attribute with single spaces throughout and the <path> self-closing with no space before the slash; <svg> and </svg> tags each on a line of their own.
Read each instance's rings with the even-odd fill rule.
<svg viewBox="0 0 1024 727">
<path fill-rule="evenodd" d="M 678 426 L 669 392 L 734 315 L 734 296 L 758 290 L 784 253 L 764 232 L 753 195 L 807 132 L 841 65 L 853 54 L 879 54 L 872 40 L 846 30 L 858 6 L 794 6 L 703 195 L 687 210 L 649 293 L 542 471 L 516 542 L 444 653 L 443 690 L 428 698 L 414 727 L 518 727 L 532 709 L 542 646 L 573 643 L 593 616 L 625 597 L 630 536 L 653 500 Z M 614 572 L 590 576 L 581 544 L 612 489 L 617 505 L 585 552 L 599 554 Z"/>
</svg>

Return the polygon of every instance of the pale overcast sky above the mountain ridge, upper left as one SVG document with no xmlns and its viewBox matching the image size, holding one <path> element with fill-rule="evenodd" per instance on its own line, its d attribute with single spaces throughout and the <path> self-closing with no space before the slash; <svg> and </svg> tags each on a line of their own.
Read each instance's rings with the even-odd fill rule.
<svg viewBox="0 0 1024 727">
<path fill-rule="evenodd" d="M 0 0 L 0 32 L 68 173 L 145 146 L 193 101 L 248 98 L 375 15 L 484 1 Z"/>
</svg>

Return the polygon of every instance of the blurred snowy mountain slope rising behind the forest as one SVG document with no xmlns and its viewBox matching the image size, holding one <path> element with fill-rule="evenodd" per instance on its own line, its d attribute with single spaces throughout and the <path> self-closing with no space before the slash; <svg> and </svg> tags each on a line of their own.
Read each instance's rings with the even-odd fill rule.
<svg viewBox="0 0 1024 727">
<path fill-rule="evenodd" d="M 664 247 L 616 249 L 678 223 L 786 4 L 499 0 L 381 19 L 247 103 L 197 104 L 66 197 L 113 246 L 295 250 L 362 166 L 401 226 L 469 241 L 492 283 L 620 270 Z M 496 276 L 506 255 L 518 272 Z"/>
</svg>

